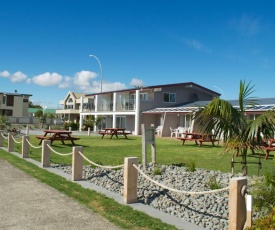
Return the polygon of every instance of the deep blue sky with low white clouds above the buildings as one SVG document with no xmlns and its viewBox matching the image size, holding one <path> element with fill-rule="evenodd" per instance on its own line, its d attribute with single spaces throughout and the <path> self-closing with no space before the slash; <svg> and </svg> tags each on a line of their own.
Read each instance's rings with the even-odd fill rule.
<svg viewBox="0 0 275 230">
<path fill-rule="evenodd" d="M 0 0 L 0 92 L 58 107 L 69 91 L 195 82 L 275 97 L 273 2 Z M 214 87 L 215 86 L 215 87 Z"/>
</svg>

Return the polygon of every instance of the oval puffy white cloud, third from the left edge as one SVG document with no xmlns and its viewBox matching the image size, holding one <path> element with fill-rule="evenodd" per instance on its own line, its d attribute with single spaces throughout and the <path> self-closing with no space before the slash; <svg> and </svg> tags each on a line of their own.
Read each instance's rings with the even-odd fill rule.
<svg viewBox="0 0 275 230">
<path fill-rule="evenodd" d="M 32 81 L 36 85 L 41 86 L 55 86 L 62 83 L 62 76 L 57 73 L 43 73 L 32 78 Z"/>
</svg>

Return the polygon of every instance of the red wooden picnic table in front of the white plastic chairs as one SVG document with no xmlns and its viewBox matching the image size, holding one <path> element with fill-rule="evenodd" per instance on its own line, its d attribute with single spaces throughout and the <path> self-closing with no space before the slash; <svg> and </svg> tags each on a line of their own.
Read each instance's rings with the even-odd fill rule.
<svg viewBox="0 0 275 230">
<path fill-rule="evenodd" d="M 178 138 L 182 141 L 182 145 L 184 145 L 185 141 L 195 141 L 196 145 L 199 147 L 202 146 L 203 142 L 211 142 L 213 146 L 215 146 L 215 136 L 213 134 L 203 134 L 203 133 L 191 133 L 184 132 L 182 136 Z"/>
</svg>

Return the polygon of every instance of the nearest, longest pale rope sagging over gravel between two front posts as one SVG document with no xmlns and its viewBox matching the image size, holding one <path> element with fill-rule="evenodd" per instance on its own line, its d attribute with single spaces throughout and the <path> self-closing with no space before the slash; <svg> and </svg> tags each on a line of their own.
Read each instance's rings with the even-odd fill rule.
<svg viewBox="0 0 275 230">
<path fill-rule="evenodd" d="M 154 184 L 156 184 L 156 185 L 158 185 L 162 188 L 165 188 L 165 189 L 167 189 L 171 192 L 183 193 L 183 194 L 186 194 L 186 195 L 203 195 L 203 194 L 218 193 L 218 192 L 223 192 L 223 191 L 229 190 L 229 187 L 210 190 L 210 191 L 203 191 L 203 192 L 189 192 L 189 191 L 182 191 L 182 190 L 178 190 L 178 189 L 173 189 L 173 188 L 170 188 L 166 185 L 163 185 L 163 184 L 159 183 L 158 181 L 155 181 L 155 180 L 151 179 L 144 172 L 142 172 L 141 169 L 138 168 L 138 166 L 136 166 L 135 164 L 133 164 L 133 166 L 144 178 L 146 178 L 147 180 L 151 181 L 152 183 L 154 183 Z"/>
</svg>

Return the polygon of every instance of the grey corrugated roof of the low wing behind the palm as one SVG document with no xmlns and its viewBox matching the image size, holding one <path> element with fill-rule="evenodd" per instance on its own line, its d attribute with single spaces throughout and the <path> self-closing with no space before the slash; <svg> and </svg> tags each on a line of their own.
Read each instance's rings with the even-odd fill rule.
<svg viewBox="0 0 275 230">
<path fill-rule="evenodd" d="M 143 111 L 143 113 L 190 113 L 195 111 L 198 107 L 206 106 L 210 101 L 196 101 L 192 103 L 185 103 L 181 105 L 177 105 L 174 107 L 167 108 L 155 108 L 147 111 Z M 232 106 L 238 108 L 239 100 L 228 100 L 232 104 Z M 254 106 L 248 106 L 246 111 L 267 111 L 272 108 L 275 108 L 275 98 L 257 98 L 255 99 Z"/>
</svg>

